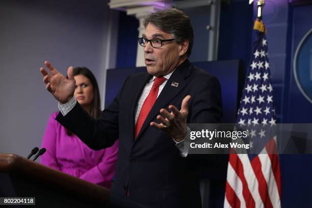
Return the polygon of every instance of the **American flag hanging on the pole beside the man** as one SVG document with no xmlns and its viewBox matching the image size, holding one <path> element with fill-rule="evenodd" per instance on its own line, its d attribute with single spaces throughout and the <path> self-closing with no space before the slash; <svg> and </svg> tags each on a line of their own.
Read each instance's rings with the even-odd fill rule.
<svg viewBox="0 0 312 208">
<path fill-rule="evenodd" d="M 247 69 L 237 123 L 272 126 L 276 120 L 265 26 L 257 19 L 254 29 L 257 39 Z M 244 140 L 251 149 L 255 148 L 255 140 L 252 139 L 262 140 L 258 153 L 230 154 L 224 207 L 280 207 L 281 180 L 276 135 L 266 135 L 264 129 L 251 129 L 250 140 Z"/>
</svg>

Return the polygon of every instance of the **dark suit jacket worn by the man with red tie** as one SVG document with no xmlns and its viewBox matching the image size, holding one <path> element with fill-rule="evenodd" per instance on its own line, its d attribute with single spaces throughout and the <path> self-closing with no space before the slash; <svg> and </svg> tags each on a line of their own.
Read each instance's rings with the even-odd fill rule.
<svg viewBox="0 0 312 208">
<path fill-rule="evenodd" d="M 92 149 L 110 147 L 119 139 L 112 194 L 157 207 L 200 207 L 195 162 L 198 155 L 181 157 L 172 138 L 149 123 L 158 122 L 156 116 L 161 108 L 168 109 L 172 104 L 180 109 L 187 95 L 192 96 L 188 123 L 221 122 L 220 83 L 216 77 L 186 60 L 172 73 L 135 140 L 135 110 L 150 79 L 147 72 L 129 75 L 114 101 L 97 120 L 92 119 L 79 103 L 66 116 L 59 114 L 56 119 Z M 172 82 L 178 86 L 171 86 Z M 205 163 L 215 164 L 216 158 L 209 155 Z M 126 196 L 127 188 L 129 196 Z"/>
</svg>

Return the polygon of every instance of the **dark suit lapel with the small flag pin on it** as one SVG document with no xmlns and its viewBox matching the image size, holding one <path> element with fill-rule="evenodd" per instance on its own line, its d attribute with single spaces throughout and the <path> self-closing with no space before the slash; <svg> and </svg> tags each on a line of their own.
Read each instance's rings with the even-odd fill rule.
<svg viewBox="0 0 312 208">
<path fill-rule="evenodd" d="M 147 115 L 136 141 L 140 139 L 141 134 L 149 126 L 149 123 L 160 114 L 159 111 L 169 105 L 170 101 L 184 89 L 187 84 L 185 79 L 191 73 L 191 67 L 192 65 L 190 62 L 186 60 L 172 73 L 162 92 L 155 101 L 152 109 Z M 174 83 L 178 83 L 178 86 L 172 86 L 175 85 Z"/>
</svg>

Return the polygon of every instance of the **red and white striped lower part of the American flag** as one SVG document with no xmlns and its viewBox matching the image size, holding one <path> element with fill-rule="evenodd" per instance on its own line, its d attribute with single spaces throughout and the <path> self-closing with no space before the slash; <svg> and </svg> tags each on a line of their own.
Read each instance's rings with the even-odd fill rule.
<svg viewBox="0 0 312 208">
<path fill-rule="evenodd" d="M 276 137 L 250 162 L 248 154 L 230 154 L 224 207 L 280 207 L 281 181 Z"/>
</svg>

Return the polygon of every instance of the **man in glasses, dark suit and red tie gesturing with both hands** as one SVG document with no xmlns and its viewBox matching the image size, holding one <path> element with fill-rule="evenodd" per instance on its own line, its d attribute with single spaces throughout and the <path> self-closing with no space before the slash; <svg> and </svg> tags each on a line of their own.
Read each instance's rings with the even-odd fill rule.
<svg viewBox="0 0 312 208">
<path fill-rule="evenodd" d="M 188 155 L 187 123 L 221 121 L 219 81 L 188 61 L 193 29 L 177 9 L 148 15 L 144 47 L 147 73 L 131 74 L 114 101 L 94 120 L 73 98 L 72 67 L 68 79 L 49 62 L 41 68 L 46 89 L 59 100 L 56 118 L 92 149 L 119 139 L 112 194 L 157 207 L 200 207 L 196 161 Z M 215 164 L 214 155 L 205 158 Z"/>
</svg>

